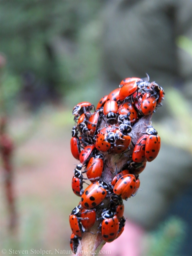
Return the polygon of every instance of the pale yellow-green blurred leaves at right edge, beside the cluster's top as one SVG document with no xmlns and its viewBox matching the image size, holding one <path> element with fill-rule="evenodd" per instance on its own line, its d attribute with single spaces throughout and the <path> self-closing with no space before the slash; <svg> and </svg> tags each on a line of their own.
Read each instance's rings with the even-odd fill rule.
<svg viewBox="0 0 192 256">
<path fill-rule="evenodd" d="M 153 122 L 153 125 L 158 130 L 158 133 L 161 134 L 163 142 L 192 152 L 190 103 L 186 101 L 180 91 L 175 88 L 166 90 L 165 98 L 172 118 L 168 117 L 169 119 L 165 119 L 164 122 L 161 123 Z"/>
</svg>

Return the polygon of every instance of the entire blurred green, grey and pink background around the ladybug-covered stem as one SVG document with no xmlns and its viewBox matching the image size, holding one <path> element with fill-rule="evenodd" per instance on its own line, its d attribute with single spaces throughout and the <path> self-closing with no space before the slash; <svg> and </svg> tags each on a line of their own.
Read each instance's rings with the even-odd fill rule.
<svg viewBox="0 0 192 256">
<path fill-rule="evenodd" d="M 79 202 L 71 189 L 77 164 L 70 153 L 72 108 L 81 101 L 96 105 L 123 78 L 148 73 L 166 93 L 153 122 L 161 160 L 149 164 L 160 186 L 148 186 L 152 170 L 146 178 L 144 171 L 140 180 L 148 190 L 143 184 L 145 200 L 138 202 L 148 212 L 142 217 L 146 206 L 137 208 L 137 195 L 132 211 L 125 202 L 125 215 L 146 230 L 141 254 L 192 254 L 191 13 L 190 0 L 0 1 L 0 111 L 15 145 L 17 212 L 10 230 L 1 164 L 1 248 L 70 250 L 68 216 Z M 162 163 L 160 182 L 155 169 Z M 163 196 L 152 203 L 156 187 Z M 163 208 L 159 214 L 154 204 Z"/>
</svg>

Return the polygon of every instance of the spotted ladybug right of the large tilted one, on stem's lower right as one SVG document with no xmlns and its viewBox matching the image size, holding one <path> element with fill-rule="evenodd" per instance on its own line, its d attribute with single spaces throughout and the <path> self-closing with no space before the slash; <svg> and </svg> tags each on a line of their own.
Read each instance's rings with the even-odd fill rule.
<svg viewBox="0 0 192 256">
<path fill-rule="evenodd" d="M 121 196 L 122 199 L 127 200 L 136 188 L 136 178 L 133 174 L 126 174 L 122 176 L 113 188 L 114 194 Z"/>
</svg>

